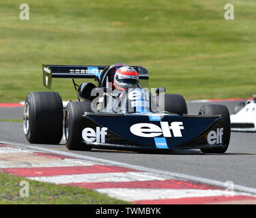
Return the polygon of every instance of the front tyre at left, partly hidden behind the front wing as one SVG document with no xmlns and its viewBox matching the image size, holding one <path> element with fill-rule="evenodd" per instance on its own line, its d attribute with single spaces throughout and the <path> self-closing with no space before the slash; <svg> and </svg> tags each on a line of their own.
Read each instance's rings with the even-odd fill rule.
<svg viewBox="0 0 256 218">
<path fill-rule="evenodd" d="M 82 116 L 91 112 L 89 102 L 70 102 L 63 115 L 63 139 L 68 150 L 90 151 L 92 146 L 82 142 Z"/>
</svg>

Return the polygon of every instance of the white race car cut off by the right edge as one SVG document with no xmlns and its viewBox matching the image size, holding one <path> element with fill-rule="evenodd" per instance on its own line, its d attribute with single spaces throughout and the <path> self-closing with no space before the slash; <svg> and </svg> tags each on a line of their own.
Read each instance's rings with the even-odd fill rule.
<svg viewBox="0 0 256 218">
<path fill-rule="evenodd" d="M 235 114 L 230 115 L 231 131 L 256 132 L 256 94 L 253 100 L 241 102 L 235 107 Z"/>
</svg>

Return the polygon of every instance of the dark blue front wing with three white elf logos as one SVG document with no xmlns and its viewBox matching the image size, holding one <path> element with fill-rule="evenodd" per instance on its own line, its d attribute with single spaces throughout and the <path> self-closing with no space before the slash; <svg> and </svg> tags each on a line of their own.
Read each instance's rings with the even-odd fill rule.
<svg viewBox="0 0 256 218">
<path fill-rule="evenodd" d="M 85 112 L 82 138 L 95 147 L 202 149 L 221 147 L 220 115 L 118 114 Z"/>
</svg>

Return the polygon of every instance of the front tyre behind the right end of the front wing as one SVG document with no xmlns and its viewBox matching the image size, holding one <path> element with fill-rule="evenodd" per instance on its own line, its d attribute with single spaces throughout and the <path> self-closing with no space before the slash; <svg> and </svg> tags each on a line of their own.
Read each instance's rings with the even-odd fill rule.
<svg viewBox="0 0 256 218">
<path fill-rule="evenodd" d="M 225 153 L 229 146 L 230 134 L 231 134 L 231 124 L 229 110 L 224 105 L 219 104 L 205 104 L 201 106 L 199 114 L 209 114 L 209 115 L 219 115 L 224 118 L 224 129 L 223 129 L 223 144 L 224 147 L 221 148 L 209 148 L 201 149 L 203 153 Z"/>
</svg>

